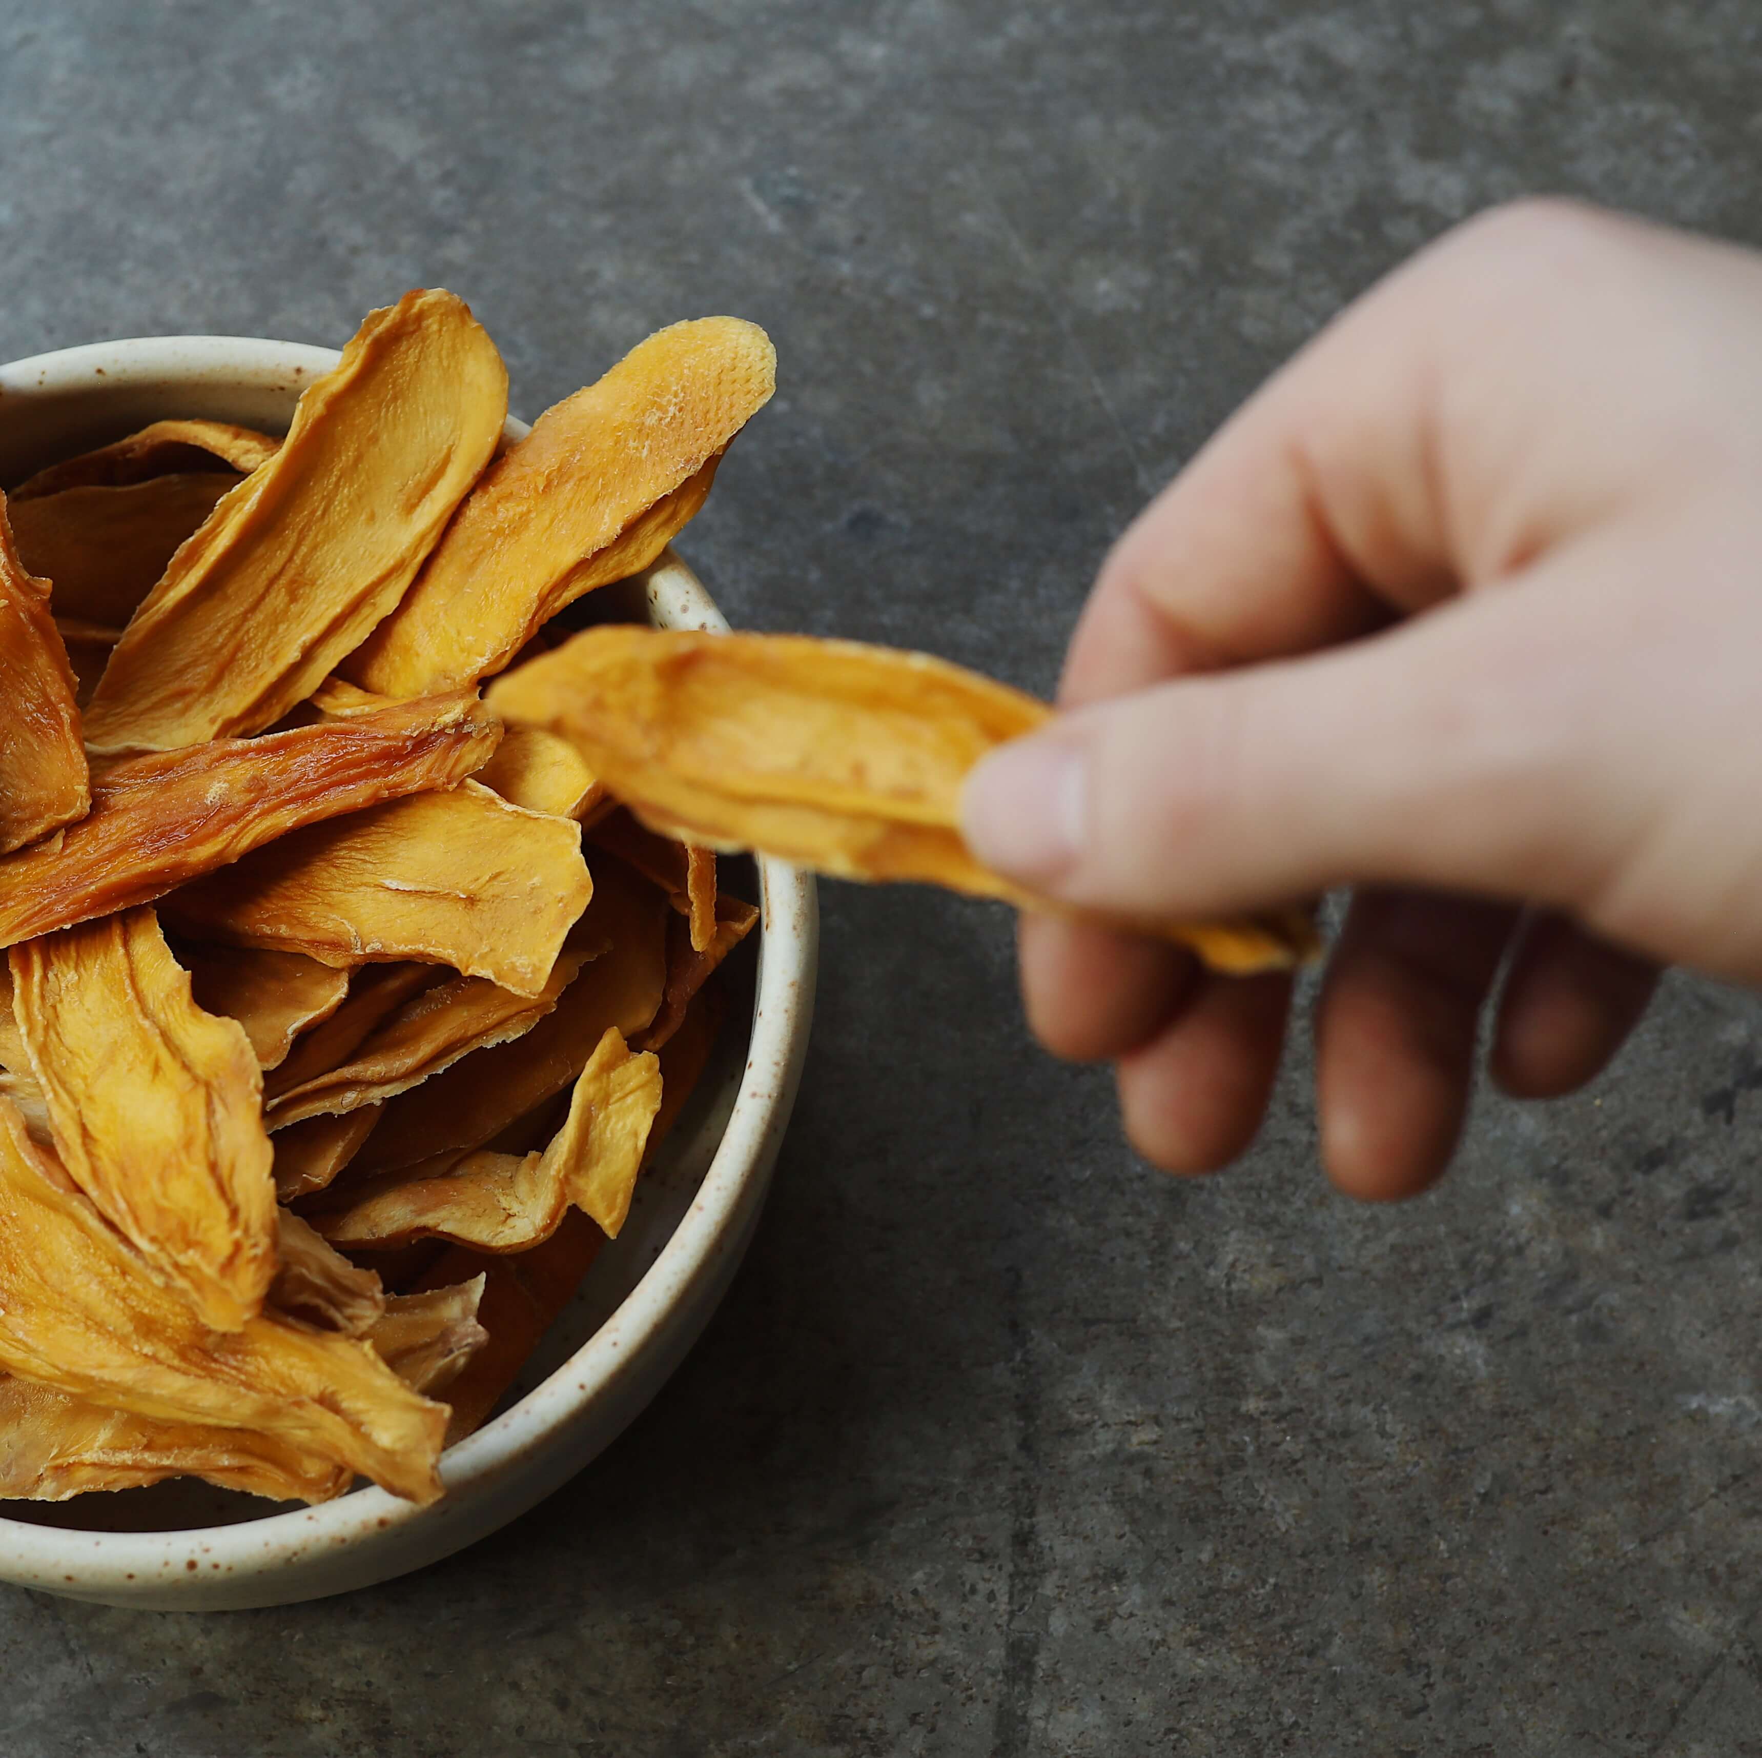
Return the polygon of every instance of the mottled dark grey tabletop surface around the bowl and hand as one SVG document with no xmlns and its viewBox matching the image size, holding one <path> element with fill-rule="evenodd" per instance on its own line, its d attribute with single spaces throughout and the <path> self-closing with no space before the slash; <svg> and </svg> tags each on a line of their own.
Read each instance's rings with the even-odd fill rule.
<svg viewBox="0 0 1762 1758">
<path fill-rule="evenodd" d="M 1762 238 L 1753 0 L 0 5 L 0 358 L 478 309 L 532 414 L 765 323 L 684 545 L 737 622 L 1048 686 L 1147 492 L 1528 189 Z M 816 1051 L 696 1356 L 502 1538 L 229 1617 L 0 1589 L 0 1751 L 1762 1753 L 1762 1012 L 1330 1197 L 1293 1067 L 1179 1185 L 1008 922 L 825 894 Z"/>
</svg>

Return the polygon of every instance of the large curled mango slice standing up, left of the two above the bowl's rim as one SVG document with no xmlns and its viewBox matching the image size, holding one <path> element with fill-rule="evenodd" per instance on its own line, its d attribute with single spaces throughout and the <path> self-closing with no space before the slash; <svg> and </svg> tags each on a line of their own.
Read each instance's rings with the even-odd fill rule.
<svg viewBox="0 0 1762 1758">
<path fill-rule="evenodd" d="M 372 312 L 134 614 L 88 744 L 252 734 L 312 695 L 416 578 L 506 414 L 507 370 L 463 300 L 418 291 Z"/>
</svg>

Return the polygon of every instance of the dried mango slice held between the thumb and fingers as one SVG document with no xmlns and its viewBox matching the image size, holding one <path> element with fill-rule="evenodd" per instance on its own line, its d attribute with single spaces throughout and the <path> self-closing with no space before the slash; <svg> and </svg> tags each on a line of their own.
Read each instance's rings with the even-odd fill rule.
<svg viewBox="0 0 1762 1758">
<path fill-rule="evenodd" d="M 1050 908 L 967 852 L 960 786 L 1052 709 L 943 659 L 618 624 L 529 661 L 488 700 L 507 721 L 569 739 L 657 831 L 839 878 L 925 880 Z M 1126 926 L 1225 972 L 1288 968 L 1314 949 L 1300 910 Z"/>
</svg>

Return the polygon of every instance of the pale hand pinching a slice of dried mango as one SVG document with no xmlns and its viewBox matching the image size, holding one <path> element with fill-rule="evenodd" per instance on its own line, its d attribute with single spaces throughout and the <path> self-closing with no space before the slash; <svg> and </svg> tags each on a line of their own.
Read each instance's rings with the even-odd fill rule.
<svg viewBox="0 0 1762 1758">
<path fill-rule="evenodd" d="M 1492 1074 L 1570 1091 L 1656 965 L 1762 980 L 1762 257 L 1559 203 L 1447 236 L 1284 367 L 1119 541 L 1070 712 L 971 778 L 976 853 L 1099 912 L 1359 887 L 1318 1009 L 1355 1196 Z M 1022 922 L 1041 1040 L 1138 1150 L 1247 1146 L 1290 984 Z"/>
</svg>

